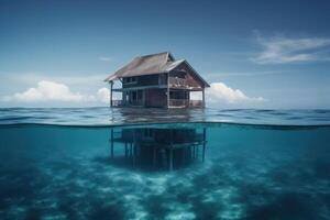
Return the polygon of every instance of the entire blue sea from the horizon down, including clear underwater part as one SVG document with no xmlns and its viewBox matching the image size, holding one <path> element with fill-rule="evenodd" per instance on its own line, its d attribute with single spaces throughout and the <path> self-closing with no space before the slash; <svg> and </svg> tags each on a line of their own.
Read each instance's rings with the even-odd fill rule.
<svg viewBox="0 0 330 220">
<path fill-rule="evenodd" d="M 330 219 L 330 110 L 0 109 L 0 219 Z"/>
</svg>

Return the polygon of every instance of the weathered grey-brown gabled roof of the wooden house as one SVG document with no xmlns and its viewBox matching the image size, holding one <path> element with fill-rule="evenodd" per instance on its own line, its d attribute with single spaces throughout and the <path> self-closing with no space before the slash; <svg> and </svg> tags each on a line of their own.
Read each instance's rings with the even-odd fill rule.
<svg viewBox="0 0 330 220">
<path fill-rule="evenodd" d="M 175 61 L 174 56 L 168 52 L 138 56 L 132 62 L 117 70 L 114 74 L 107 77 L 105 81 L 112 81 L 123 77 L 169 73 L 183 63 L 186 63 L 197 78 L 200 79 L 205 86 L 209 87 L 209 84 L 198 75 L 198 73 L 187 63 L 187 61 Z"/>
</svg>

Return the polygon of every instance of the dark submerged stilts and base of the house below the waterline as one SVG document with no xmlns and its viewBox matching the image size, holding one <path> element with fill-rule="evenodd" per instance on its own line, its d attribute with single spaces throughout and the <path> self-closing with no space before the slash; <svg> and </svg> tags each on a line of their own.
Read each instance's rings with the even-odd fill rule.
<svg viewBox="0 0 330 220">
<path fill-rule="evenodd" d="M 111 163 L 139 169 L 177 169 L 204 162 L 206 143 L 205 128 L 111 129 Z"/>
</svg>

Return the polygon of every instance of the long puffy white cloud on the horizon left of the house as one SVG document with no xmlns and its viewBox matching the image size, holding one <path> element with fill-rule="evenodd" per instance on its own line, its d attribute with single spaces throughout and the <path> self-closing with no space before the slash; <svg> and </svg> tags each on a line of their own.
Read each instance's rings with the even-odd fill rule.
<svg viewBox="0 0 330 220">
<path fill-rule="evenodd" d="M 36 87 L 6 96 L 2 101 L 14 101 L 21 103 L 62 102 L 62 103 L 108 103 L 109 89 L 101 88 L 96 95 L 82 95 L 74 92 L 65 84 L 48 80 L 38 81 Z"/>
</svg>

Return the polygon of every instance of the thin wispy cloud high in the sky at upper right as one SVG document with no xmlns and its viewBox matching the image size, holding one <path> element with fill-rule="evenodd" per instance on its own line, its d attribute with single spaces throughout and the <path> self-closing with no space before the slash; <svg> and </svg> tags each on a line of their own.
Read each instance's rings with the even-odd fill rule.
<svg viewBox="0 0 330 220">
<path fill-rule="evenodd" d="M 252 58 L 257 64 L 330 61 L 330 38 L 289 38 L 284 36 L 266 38 L 258 35 L 257 43 L 263 48 Z"/>
</svg>

